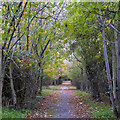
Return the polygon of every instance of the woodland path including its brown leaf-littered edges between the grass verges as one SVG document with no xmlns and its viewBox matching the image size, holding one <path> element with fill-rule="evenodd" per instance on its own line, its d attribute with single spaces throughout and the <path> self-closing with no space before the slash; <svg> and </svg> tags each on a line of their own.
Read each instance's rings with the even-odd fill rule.
<svg viewBox="0 0 120 120">
<path fill-rule="evenodd" d="M 64 82 L 48 96 L 38 100 L 38 108 L 28 114 L 27 118 L 91 118 L 90 110 L 75 95 L 71 82 Z"/>
</svg>

